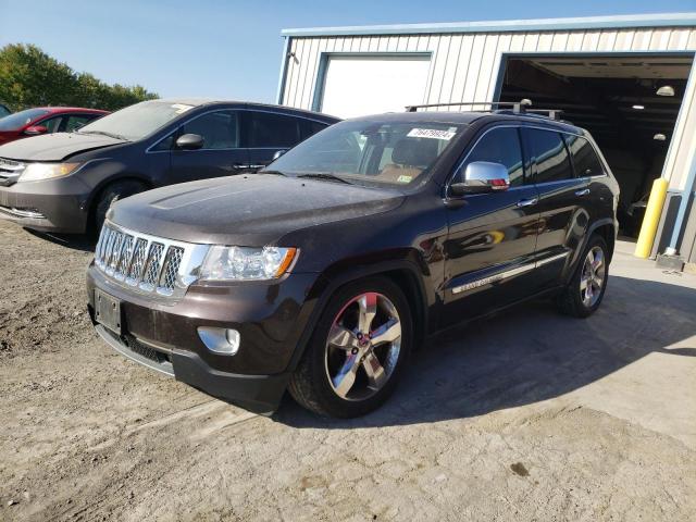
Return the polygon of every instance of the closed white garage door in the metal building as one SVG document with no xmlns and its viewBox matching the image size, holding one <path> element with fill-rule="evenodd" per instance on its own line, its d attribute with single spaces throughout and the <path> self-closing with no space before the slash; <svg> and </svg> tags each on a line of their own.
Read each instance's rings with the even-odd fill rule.
<svg viewBox="0 0 696 522">
<path fill-rule="evenodd" d="M 328 55 L 315 109 L 338 117 L 402 112 L 423 99 L 430 63 L 430 54 Z"/>
</svg>

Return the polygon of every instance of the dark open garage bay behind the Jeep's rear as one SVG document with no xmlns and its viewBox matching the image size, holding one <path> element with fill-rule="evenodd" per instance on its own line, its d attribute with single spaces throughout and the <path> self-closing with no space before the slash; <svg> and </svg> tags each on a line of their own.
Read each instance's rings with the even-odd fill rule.
<svg viewBox="0 0 696 522">
<path fill-rule="evenodd" d="M 499 101 L 529 98 L 589 130 L 621 186 L 621 233 L 636 237 L 692 62 L 683 54 L 508 58 Z"/>
</svg>

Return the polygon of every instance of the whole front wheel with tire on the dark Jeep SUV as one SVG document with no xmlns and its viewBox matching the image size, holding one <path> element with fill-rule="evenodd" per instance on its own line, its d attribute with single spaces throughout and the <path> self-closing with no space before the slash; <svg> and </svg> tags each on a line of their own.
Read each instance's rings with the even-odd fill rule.
<svg viewBox="0 0 696 522">
<path fill-rule="evenodd" d="M 394 391 L 413 343 L 411 311 L 391 281 L 371 277 L 335 294 L 289 384 L 302 407 L 352 418 Z"/>
</svg>

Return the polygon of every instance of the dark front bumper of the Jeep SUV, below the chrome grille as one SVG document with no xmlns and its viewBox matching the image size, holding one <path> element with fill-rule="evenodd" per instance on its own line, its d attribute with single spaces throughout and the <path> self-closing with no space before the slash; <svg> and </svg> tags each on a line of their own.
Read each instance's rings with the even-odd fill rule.
<svg viewBox="0 0 696 522">
<path fill-rule="evenodd" d="M 291 375 L 293 357 L 313 308 L 307 296 L 314 274 L 278 282 L 192 285 L 175 303 L 135 295 L 94 264 L 87 272 L 88 309 L 111 347 L 152 370 L 251 411 L 274 411 Z M 121 335 L 95 321 L 95 288 L 120 299 Z M 209 350 L 198 326 L 240 333 L 234 356 Z"/>
</svg>

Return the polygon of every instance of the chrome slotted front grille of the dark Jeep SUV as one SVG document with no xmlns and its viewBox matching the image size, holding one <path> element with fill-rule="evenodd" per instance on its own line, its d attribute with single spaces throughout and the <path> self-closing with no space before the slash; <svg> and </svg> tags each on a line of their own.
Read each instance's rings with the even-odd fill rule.
<svg viewBox="0 0 696 522">
<path fill-rule="evenodd" d="M 95 264 L 120 285 L 140 294 L 182 297 L 196 279 L 208 247 L 127 231 L 107 222 Z"/>
</svg>

